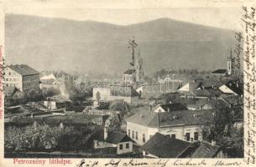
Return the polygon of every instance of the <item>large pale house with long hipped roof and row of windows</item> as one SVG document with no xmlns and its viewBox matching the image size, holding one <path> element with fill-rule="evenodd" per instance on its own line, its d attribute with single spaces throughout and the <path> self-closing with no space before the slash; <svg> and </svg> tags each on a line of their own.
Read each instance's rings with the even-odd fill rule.
<svg viewBox="0 0 256 167">
<path fill-rule="evenodd" d="M 140 145 L 145 144 L 157 132 L 188 142 L 201 140 L 201 115 L 208 114 L 208 119 L 211 119 L 213 112 L 186 109 L 163 113 L 142 107 L 126 119 L 127 134 Z"/>
</svg>

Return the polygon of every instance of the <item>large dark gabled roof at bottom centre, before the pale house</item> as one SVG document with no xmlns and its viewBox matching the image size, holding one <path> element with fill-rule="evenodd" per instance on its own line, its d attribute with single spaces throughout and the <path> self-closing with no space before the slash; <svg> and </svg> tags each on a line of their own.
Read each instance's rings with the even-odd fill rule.
<svg viewBox="0 0 256 167">
<path fill-rule="evenodd" d="M 190 145 L 183 140 L 170 138 L 170 135 L 156 133 L 141 149 L 159 158 L 178 158 Z"/>
</svg>

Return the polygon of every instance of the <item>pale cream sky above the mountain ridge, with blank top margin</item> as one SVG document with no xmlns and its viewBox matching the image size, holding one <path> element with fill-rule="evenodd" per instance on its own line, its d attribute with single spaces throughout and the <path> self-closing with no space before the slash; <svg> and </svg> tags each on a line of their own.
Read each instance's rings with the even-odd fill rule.
<svg viewBox="0 0 256 167">
<path fill-rule="evenodd" d="M 4 13 L 119 25 L 157 18 L 238 30 L 242 0 L 3 0 Z M 243 0 L 244 2 L 244 0 Z"/>
</svg>

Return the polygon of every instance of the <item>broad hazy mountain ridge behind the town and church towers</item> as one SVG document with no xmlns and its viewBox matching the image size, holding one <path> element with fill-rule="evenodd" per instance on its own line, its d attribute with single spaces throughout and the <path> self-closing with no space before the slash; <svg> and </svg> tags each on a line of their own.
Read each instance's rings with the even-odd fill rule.
<svg viewBox="0 0 256 167">
<path fill-rule="evenodd" d="M 125 18 L 124 18 L 125 19 Z M 7 63 L 38 70 L 123 73 L 135 37 L 145 73 L 161 68 L 226 68 L 234 32 L 160 18 L 128 26 L 9 14 L 5 19 Z"/>
</svg>

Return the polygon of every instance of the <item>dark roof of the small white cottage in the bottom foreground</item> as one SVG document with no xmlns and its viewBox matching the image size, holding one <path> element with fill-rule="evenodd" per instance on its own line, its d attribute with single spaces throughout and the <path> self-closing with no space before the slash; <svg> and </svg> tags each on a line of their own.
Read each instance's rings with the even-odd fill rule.
<svg viewBox="0 0 256 167">
<path fill-rule="evenodd" d="M 122 132 L 112 131 L 107 133 L 107 139 L 106 139 L 107 143 L 118 144 L 126 141 L 133 141 L 133 140 L 130 139 L 127 134 Z"/>
</svg>

